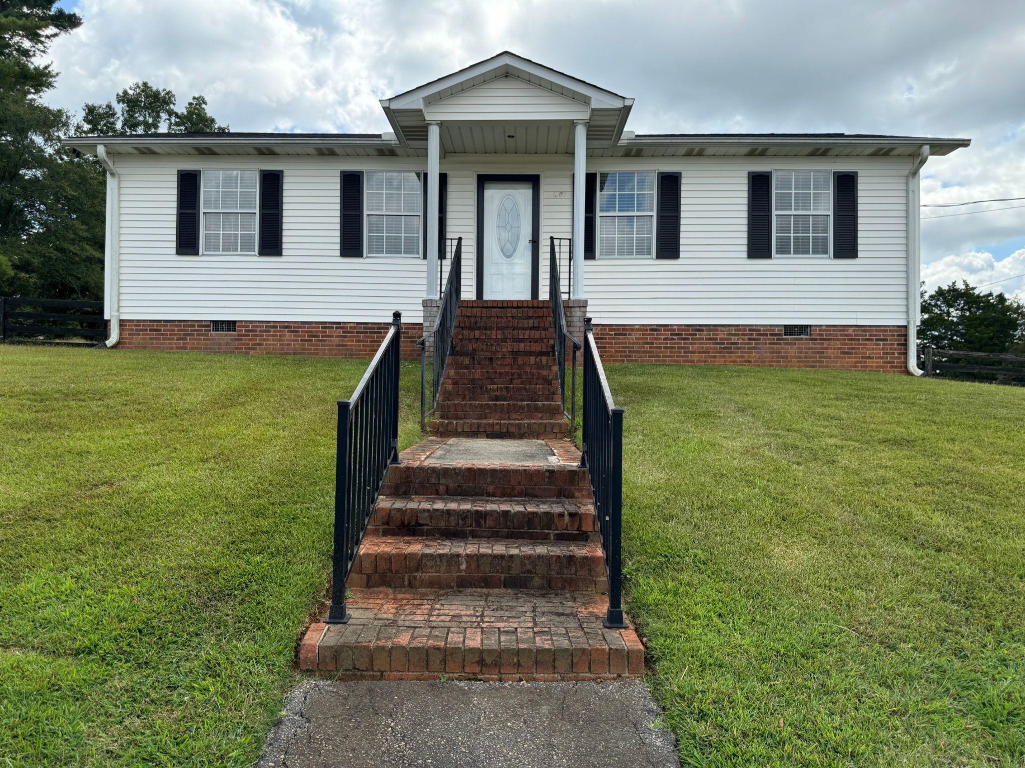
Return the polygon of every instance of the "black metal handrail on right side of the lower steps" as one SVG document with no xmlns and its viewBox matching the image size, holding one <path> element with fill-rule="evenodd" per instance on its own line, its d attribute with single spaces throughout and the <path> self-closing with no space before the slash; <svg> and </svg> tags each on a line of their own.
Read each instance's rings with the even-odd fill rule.
<svg viewBox="0 0 1025 768">
<path fill-rule="evenodd" d="M 590 317 L 584 319 L 583 449 L 580 466 L 587 468 L 594 495 L 594 513 L 602 535 L 602 553 L 609 579 L 609 607 L 603 624 L 625 627 L 623 584 L 623 410 L 612 401 L 602 357 L 594 343 Z"/>
</svg>

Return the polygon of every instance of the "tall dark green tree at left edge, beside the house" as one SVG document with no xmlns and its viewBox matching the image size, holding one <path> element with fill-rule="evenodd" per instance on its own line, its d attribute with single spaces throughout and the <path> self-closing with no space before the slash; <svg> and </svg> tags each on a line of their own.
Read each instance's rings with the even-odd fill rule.
<svg viewBox="0 0 1025 768">
<path fill-rule="evenodd" d="M 56 79 L 40 58 L 82 23 L 53 5 L 0 0 L 0 294 L 94 297 L 102 291 L 102 177 L 60 147 L 71 116 L 40 100 Z"/>
</svg>

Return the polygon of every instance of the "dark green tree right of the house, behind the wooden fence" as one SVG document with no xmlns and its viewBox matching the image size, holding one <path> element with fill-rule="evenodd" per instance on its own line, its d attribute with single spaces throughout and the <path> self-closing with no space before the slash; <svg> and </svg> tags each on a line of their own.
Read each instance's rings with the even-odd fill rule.
<svg viewBox="0 0 1025 768">
<path fill-rule="evenodd" d="M 973 352 L 1025 351 L 1025 305 L 1007 294 L 980 293 L 967 281 L 922 290 L 922 347 Z"/>
</svg>

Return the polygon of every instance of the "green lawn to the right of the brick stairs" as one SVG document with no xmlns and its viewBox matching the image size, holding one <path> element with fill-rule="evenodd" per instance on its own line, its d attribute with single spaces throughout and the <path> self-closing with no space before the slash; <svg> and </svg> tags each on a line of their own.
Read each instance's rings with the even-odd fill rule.
<svg viewBox="0 0 1025 768">
<path fill-rule="evenodd" d="M 609 378 L 628 608 L 685 764 L 1025 764 L 1025 390 Z"/>
</svg>

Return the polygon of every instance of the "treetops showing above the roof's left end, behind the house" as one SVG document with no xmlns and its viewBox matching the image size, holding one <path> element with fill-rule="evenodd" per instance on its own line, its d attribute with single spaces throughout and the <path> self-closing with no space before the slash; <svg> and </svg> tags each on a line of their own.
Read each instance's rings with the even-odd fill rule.
<svg viewBox="0 0 1025 768">
<path fill-rule="evenodd" d="M 129 133 L 197 133 L 224 132 L 228 126 L 218 125 L 206 111 L 206 98 L 193 96 L 183 112 L 174 109 L 177 98 L 169 88 L 155 88 L 147 81 L 133 83 L 115 97 L 121 108 L 110 101 L 88 103 L 83 108 L 82 127 L 92 136 L 112 136 Z"/>
</svg>

